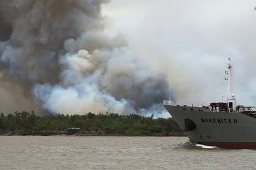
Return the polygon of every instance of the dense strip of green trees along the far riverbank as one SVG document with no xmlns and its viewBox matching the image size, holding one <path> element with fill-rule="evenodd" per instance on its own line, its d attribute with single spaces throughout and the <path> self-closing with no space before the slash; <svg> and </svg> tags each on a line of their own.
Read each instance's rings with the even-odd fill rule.
<svg viewBox="0 0 256 170">
<path fill-rule="evenodd" d="M 15 112 L 0 116 L 0 133 L 33 134 L 35 132 L 63 132 L 79 127 L 80 134 L 93 135 L 168 135 L 182 133 L 172 118 L 143 117 L 140 115 L 85 114 L 40 117 L 34 112 Z"/>
</svg>

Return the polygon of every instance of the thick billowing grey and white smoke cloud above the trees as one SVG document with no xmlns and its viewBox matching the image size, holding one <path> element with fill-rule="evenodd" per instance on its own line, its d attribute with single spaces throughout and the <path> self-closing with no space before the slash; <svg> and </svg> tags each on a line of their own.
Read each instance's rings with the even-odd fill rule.
<svg viewBox="0 0 256 170">
<path fill-rule="evenodd" d="M 2 87 L 18 86 L 52 114 L 162 112 L 165 75 L 136 60 L 122 36 L 105 35 L 106 2 L 1 0 Z"/>
</svg>

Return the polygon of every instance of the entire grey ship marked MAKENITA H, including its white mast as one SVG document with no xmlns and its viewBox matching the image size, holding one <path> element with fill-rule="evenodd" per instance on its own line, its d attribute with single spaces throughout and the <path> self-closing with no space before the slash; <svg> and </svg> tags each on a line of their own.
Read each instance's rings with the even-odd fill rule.
<svg viewBox="0 0 256 170">
<path fill-rule="evenodd" d="M 226 149 L 256 149 L 256 107 L 236 104 L 230 58 L 225 73 L 226 102 L 195 107 L 165 100 L 163 105 L 192 143 Z"/>
</svg>

